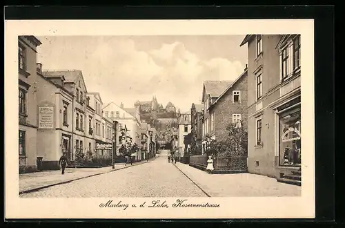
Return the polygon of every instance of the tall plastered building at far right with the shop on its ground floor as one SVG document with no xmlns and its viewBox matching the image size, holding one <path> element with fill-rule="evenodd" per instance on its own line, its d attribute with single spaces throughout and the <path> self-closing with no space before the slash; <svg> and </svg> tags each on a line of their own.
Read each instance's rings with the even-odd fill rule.
<svg viewBox="0 0 345 228">
<path fill-rule="evenodd" d="M 299 35 L 246 35 L 248 171 L 300 184 Z"/>
</svg>

